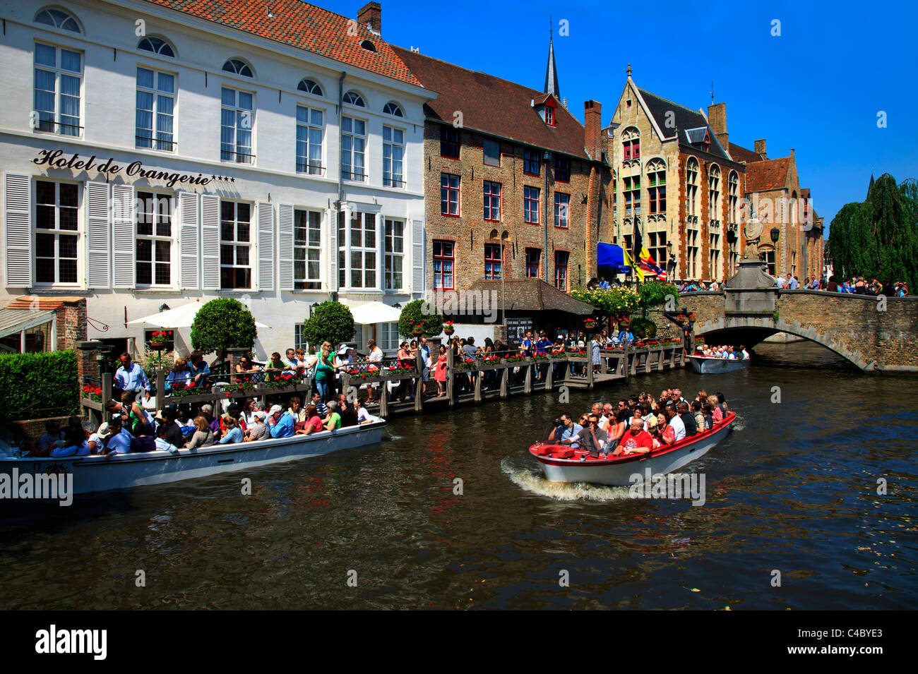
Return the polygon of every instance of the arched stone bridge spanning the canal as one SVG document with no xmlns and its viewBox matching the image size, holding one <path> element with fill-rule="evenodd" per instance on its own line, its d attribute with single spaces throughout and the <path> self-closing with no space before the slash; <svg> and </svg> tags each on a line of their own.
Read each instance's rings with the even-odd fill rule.
<svg viewBox="0 0 918 674">
<path fill-rule="evenodd" d="M 918 372 L 918 297 L 758 287 L 682 294 L 679 304 L 697 316 L 695 337 L 711 344 L 752 347 L 786 332 L 822 344 L 860 370 Z"/>
</svg>

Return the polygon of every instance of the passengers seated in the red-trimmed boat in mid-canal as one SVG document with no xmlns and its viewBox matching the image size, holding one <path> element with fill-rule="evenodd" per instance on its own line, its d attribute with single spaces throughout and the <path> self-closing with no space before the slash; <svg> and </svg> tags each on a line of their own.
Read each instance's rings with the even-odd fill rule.
<svg viewBox="0 0 918 674">
<path fill-rule="evenodd" d="M 666 389 L 655 399 L 641 392 L 613 403 L 593 403 L 579 417 L 561 414 L 547 443 L 582 448 L 594 458 L 645 454 L 711 430 L 729 413 L 723 393 L 699 391 L 688 401 L 679 389 Z"/>
</svg>

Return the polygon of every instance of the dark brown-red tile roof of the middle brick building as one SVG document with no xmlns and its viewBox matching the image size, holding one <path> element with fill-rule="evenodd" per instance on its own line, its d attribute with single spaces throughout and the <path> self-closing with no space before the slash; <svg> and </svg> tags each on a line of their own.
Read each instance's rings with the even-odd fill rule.
<svg viewBox="0 0 918 674">
<path fill-rule="evenodd" d="M 554 108 L 554 127 L 546 125 L 532 107 L 533 100 L 538 105 L 547 99 L 544 92 L 400 47 L 394 49 L 420 83 L 439 94 L 424 105 L 428 119 L 452 124 L 453 113 L 459 110 L 465 128 L 589 159 L 584 149 L 584 127 L 564 105 Z"/>
</svg>

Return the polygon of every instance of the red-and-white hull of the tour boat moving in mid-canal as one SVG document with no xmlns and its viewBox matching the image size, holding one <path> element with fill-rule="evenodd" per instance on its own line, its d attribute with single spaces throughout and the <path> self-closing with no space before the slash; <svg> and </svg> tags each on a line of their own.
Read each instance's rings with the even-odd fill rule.
<svg viewBox="0 0 918 674">
<path fill-rule="evenodd" d="M 583 449 L 541 442 L 532 445 L 529 451 L 542 464 L 548 481 L 628 486 L 633 484 L 632 476 L 635 474 L 643 477 L 648 469 L 652 475 L 672 472 L 704 456 L 711 447 L 730 435 L 735 418 L 736 414 L 731 412 L 711 430 L 687 437 L 675 445 L 657 447 L 649 454 L 614 458 L 607 455 L 605 459 L 599 459 L 590 457 L 589 452 Z"/>
</svg>

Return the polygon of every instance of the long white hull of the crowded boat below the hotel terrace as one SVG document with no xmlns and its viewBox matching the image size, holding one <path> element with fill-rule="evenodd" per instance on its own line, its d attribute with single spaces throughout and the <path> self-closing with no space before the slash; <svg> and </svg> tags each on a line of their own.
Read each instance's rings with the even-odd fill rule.
<svg viewBox="0 0 918 674">
<path fill-rule="evenodd" d="M 162 484 L 203 478 L 221 472 L 246 470 L 296 459 L 319 457 L 339 449 L 378 444 L 386 420 L 372 417 L 372 424 L 344 426 L 308 436 L 277 437 L 252 442 L 208 445 L 177 452 L 156 450 L 105 456 L 55 458 L 17 458 L 0 456 L 0 475 L 12 476 L 73 474 L 73 493 L 107 492 L 146 484 Z M 15 472 L 14 472 L 15 470 Z"/>
</svg>

